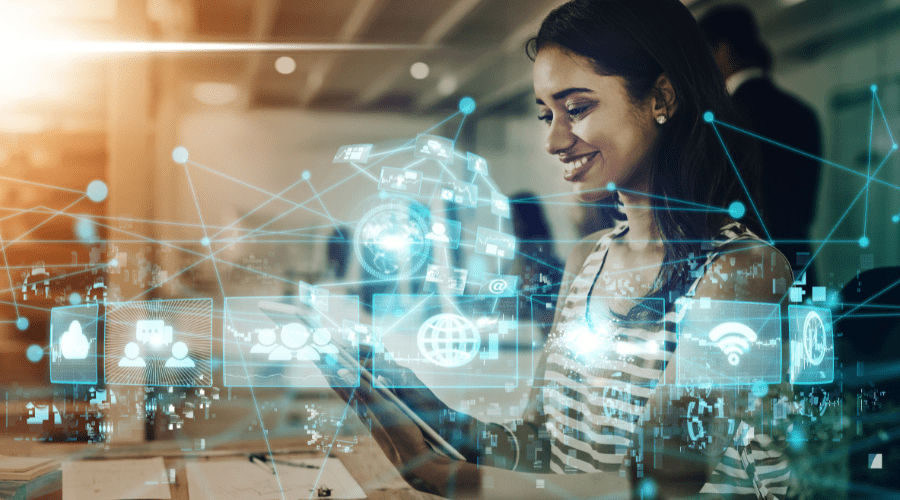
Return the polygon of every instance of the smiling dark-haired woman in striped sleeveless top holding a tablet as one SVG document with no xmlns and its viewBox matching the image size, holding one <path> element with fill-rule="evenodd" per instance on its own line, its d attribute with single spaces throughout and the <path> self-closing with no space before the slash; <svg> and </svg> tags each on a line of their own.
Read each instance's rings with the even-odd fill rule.
<svg viewBox="0 0 900 500">
<path fill-rule="evenodd" d="M 462 462 L 431 451 L 367 385 L 341 394 L 364 403 L 411 484 L 445 496 L 783 497 L 787 464 L 749 427 L 759 400 L 671 383 L 678 300 L 778 304 L 773 283 L 793 279 L 784 257 L 724 210 L 746 189 L 704 120 L 711 111 L 735 121 L 696 22 L 677 0 L 574 0 L 548 15 L 528 52 L 547 152 L 582 199 L 614 193 L 620 219 L 567 260 L 532 408 L 517 425 L 485 425 L 427 391 L 396 390 Z M 740 137 L 723 140 L 752 161 Z"/>
</svg>

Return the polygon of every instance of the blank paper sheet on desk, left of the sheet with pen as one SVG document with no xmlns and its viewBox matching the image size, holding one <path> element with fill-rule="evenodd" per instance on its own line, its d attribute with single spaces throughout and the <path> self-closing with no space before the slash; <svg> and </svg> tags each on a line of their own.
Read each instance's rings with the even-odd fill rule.
<svg viewBox="0 0 900 500">
<path fill-rule="evenodd" d="M 65 500 L 172 498 L 162 457 L 64 462 L 62 469 Z"/>
</svg>

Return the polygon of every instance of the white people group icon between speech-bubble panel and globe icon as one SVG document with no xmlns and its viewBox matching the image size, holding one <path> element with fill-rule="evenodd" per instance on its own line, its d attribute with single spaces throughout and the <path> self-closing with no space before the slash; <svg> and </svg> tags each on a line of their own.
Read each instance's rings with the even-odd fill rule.
<svg viewBox="0 0 900 500">
<path fill-rule="evenodd" d="M 319 361 L 325 354 L 338 352 L 327 328 L 310 332 L 300 323 L 288 323 L 281 327 L 280 335 L 272 328 L 257 332 L 258 342 L 250 348 L 250 353 L 267 355 L 269 361 Z"/>
</svg>

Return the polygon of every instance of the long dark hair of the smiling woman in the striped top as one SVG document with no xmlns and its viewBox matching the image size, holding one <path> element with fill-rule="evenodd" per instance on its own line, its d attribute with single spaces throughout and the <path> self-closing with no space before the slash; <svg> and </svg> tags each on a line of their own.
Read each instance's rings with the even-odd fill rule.
<svg viewBox="0 0 900 500">
<path fill-rule="evenodd" d="M 660 127 L 650 174 L 650 202 L 665 245 L 652 295 L 686 287 L 687 259 L 702 255 L 702 243 L 729 220 L 726 208 L 746 200 L 726 149 L 748 183 L 758 177 L 754 144 L 720 129 L 723 148 L 704 120 L 709 111 L 716 120 L 742 124 L 697 22 L 678 0 L 572 0 L 544 19 L 526 51 L 534 60 L 550 46 L 588 58 L 598 74 L 624 78 L 635 103 L 651 96 L 661 74 L 672 82 L 677 109 Z M 698 204 L 712 208 L 697 211 Z"/>
</svg>

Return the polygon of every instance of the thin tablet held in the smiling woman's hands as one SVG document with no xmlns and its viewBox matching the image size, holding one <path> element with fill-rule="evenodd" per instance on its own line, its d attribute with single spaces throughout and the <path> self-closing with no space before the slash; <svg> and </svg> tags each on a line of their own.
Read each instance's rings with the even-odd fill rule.
<svg viewBox="0 0 900 500">
<path fill-rule="evenodd" d="M 274 321 L 276 324 L 283 324 L 287 318 L 290 318 L 293 322 L 299 322 L 302 325 L 306 326 L 310 331 L 316 330 L 318 328 L 323 328 L 323 323 L 330 323 L 334 325 L 333 327 L 336 329 L 340 329 L 341 327 L 337 324 L 334 318 L 329 317 L 327 314 L 313 308 L 312 306 L 304 305 L 304 308 L 300 308 L 291 304 L 283 304 L 279 302 L 270 302 L 267 300 L 259 301 L 259 310 L 264 312 L 269 318 Z M 324 328 L 328 328 L 325 326 Z M 335 338 L 337 337 L 337 338 Z M 438 453 L 458 460 L 465 461 L 465 457 L 458 451 L 456 448 L 450 445 L 441 435 L 430 425 L 428 425 L 424 420 L 422 420 L 419 415 L 413 411 L 406 403 L 397 397 L 393 391 L 388 389 L 378 380 L 376 377 L 372 376 L 372 372 L 369 371 L 365 366 L 360 364 L 358 356 L 353 356 L 347 351 L 347 339 L 345 339 L 342 335 L 334 336 L 332 335 L 332 339 L 334 340 L 334 346 L 337 348 L 337 353 L 334 354 L 334 361 L 337 364 L 345 367 L 350 370 L 351 373 L 356 372 L 359 376 L 364 379 L 372 389 L 378 392 L 379 395 L 397 405 L 403 413 L 405 413 L 422 431 L 422 435 L 425 436 L 426 442 Z M 347 379 L 345 379 L 347 380 Z M 348 380 L 348 382 L 354 382 L 352 380 Z"/>
</svg>

